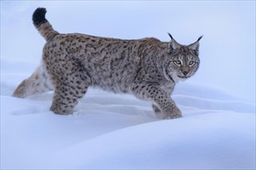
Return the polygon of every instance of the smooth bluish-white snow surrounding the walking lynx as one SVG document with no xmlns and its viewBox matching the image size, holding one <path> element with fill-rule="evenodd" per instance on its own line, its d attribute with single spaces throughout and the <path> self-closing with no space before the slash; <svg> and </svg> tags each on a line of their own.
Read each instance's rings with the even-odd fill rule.
<svg viewBox="0 0 256 170">
<path fill-rule="evenodd" d="M 199 72 L 173 93 L 183 117 L 161 120 L 147 101 L 99 89 L 69 116 L 50 112 L 53 92 L 12 97 L 40 63 L 38 6 L 59 32 L 171 32 L 184 44 L 204 34 Z M 255 169 L 254 37 L 255 2 L 1 2 L 0 168 Z"/>
</svg>

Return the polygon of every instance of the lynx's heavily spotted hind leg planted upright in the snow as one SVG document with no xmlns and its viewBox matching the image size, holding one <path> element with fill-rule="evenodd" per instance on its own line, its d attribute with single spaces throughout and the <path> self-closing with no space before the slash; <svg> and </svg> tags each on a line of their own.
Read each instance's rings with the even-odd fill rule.
<svg viewBox="0 0 256 170">
<path fill-rule="evenodd" d="M 79 79 L 74 77 L 79 77 Z M 55 114 L 73 114 L 78 100 L 85 95 L 88 89 L 89 83 L 86 80 L 82 73 L 74 73 L 72 76 L 67 76 L 67 79 L 53 78 L 55 92 L 50 110 Z"/>
</svg>

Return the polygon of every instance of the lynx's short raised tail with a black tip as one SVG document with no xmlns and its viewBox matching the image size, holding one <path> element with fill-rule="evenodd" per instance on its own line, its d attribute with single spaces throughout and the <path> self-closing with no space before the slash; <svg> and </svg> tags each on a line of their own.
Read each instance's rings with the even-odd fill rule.
<svg viewBox="0 0 256 170">
<path fill-rule="evenodd" d="M 45 14 L 47 13 L 46 8 L 36 8 L 36 11 L 33 12 L 32 20 L 33 24 L 40 32 L 41 36 L 47 41 L 50 41 L 57 36 L 59 32 L 55 31 L 53 27 L 50 25 L 50 22 L 45 18 Z"/>
</svg>

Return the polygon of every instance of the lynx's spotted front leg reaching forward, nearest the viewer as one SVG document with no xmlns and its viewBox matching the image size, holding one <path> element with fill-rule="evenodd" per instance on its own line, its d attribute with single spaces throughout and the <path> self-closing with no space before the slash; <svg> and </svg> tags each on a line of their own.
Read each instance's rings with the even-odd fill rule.
<svg viewBox="0 0 256 170">
<path fill-rule="evenodd" d="M 176 106 L 175 101 L 160 87 L 153 84 L 140 83 L 140 85 L 134 84 L 132 90 L 141 99 L 153 100 L 156 104 L 154 105 L 154 110 L 161 110 L 165 119 L 182 117 L 182 112 Z"/>
</svg>

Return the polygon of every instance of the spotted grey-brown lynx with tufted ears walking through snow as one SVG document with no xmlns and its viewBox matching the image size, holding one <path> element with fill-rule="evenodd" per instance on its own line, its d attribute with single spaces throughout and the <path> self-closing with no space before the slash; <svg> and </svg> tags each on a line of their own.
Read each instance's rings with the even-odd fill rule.
<svg viewBox="0 0 256 170">
<path fill-rule="evenodd" d="M 171 93 L 179 80 L 188 79 L 198 70 L 202 36 L 184 46 L 169 33 L 170 42 L 60 34 L 45 18 L 46 12 L 46 8 L 33 12 L 33 24 L 47 41 L 43 61 L 32 76 L 19 84 L 14 97 L 54 90 L 50 110 L 72 114 L 88 87 L 100 87 L 149 100 L 154 111 L 165 119 L 182 117 Z"/>
</svg>

